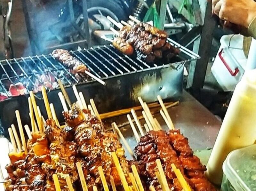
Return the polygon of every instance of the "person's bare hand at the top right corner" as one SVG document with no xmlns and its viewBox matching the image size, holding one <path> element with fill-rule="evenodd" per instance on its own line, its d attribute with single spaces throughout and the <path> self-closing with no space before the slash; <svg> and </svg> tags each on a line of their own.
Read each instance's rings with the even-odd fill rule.
<svg viewBox="0 0 256 191">
<path fill-rule="evenodd" d="M 212 0 L 212 12 L 220 19 L 248 28 L 256 17 L 253 0 Z"/>
</svg>

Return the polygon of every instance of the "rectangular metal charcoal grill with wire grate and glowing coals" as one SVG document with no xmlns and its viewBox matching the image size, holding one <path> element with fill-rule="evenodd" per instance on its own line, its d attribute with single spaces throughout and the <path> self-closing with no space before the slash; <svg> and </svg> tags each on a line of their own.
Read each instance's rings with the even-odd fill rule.
<svg viewBox="0 0 256 191">
<path fill-rule="evenodd" d="M 93 80 L 79 80 L 81 76 L 70 73 L 68 68 L 51 55 L 0 61 L 0 92 L 8 96 L 0 102 L 1 125 L 6 130 L 12 123 L 16 124 L 14 112 L 17 109 L 20 110 L 23 125 L 30 123 L 28 93 L 31 90 L 37 92 L 40 88 L 35 87 L 43 84 L 45 76 L 51 78 L 48 98 L 49 102 L 54 104 L 60 121 L 63 118 L 57 79 L 61 79 L 72 102 L 75 102 L 76 98 L 71 86 L 77 84 L 78 92 L 83 92 L 87 102 L 93 98 L 100 113 L 139 105 L 138 96 L 147 102 L 156 101 L 157 95 L 161 95 L 163 99 L 177 100 L 182 94 L 184 64 L 200 58 L 185 47 L 181 48 L 179 57 L 169 64 L 145 63 L 122 54 L 112 45 L 71 51 L 70 53 L 82 61 L 91 73 L 106 82 L 104 86 Z M 18 82 L 24 85 L 24 95 L 12 96 L 10 86 Z M 47 86 L 47 83 L 45 85 Z M 36 93 L 36 101 L 46 117 L 41 92 Z M 5 131 L 6 136 L 7 133 L 8 131 Z"/>
</svg>

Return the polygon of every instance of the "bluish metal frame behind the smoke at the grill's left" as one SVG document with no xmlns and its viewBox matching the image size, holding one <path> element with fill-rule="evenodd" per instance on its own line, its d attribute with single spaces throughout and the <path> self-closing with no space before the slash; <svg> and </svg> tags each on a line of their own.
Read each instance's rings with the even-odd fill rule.
<svg viewBox="0 0 256 191">
<path fill-rule="evenodd" d="M 82 0 L 82 3 L 83 3 L 83 22 L 85 26 L 88 26 L 87 1 Z M 31 52 L 33 55 L 42 54 L 45 52 L 48 53 L 56 48 L 75 49 L 78 46 L 80 46 L 81 48 L 91 47 L 91 38 L 90 38 L 89 28 L 85 27 L 83 31 L 76 23 L 72 0 L 68 0 L 68 8 L 70 12 L 70 24 L 77 31 L 77 34 L 79 34 L 83 38 L 83 40 L 65 43 L 61 36 L 58 36 L 57 34 L 53 34 L 53 36 L 56 36 L 60 44 L 46 47 L 46 48 L 43 48 L 42 45 L 40 44 L 38 34 L 35 30 L 36 23 L 33 18 L 36 12 L 33 12 L 33 9 L 31 8 L 33 7 L 33 5 L 29 0 L 22 0 L 22 5 L 23 5 L 23 12 L 25 15 L 25 22 L 27 26 L 28 36 L 30 39 Z"/>
</svg>

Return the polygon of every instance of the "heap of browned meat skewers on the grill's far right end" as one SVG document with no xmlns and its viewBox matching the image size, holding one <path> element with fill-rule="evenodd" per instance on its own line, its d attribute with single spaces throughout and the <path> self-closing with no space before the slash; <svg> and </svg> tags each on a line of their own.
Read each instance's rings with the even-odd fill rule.
<svg viewBox="0 0 256 191">
<path fill-rule="evenodd" d="M 168 35 L 148 23 L 137 22 L 125 26 L 108 17 L 120 31 L 110 28 L 118 36 L 114 38 L 113 46 L 126 55 L 136 54 L 137 58 L 148 63 L 162 61 L 169 63 L 171 59 L 179 54 L 179 49 L 167 42 Z"/>
</svg>

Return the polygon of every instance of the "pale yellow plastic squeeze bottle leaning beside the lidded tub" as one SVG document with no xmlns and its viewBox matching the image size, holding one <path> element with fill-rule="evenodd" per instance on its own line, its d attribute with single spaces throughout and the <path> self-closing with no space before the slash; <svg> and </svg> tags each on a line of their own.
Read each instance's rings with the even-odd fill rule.
<svg viewBox="0 0 256 191">
<path fill-rule="evenodd" d="M 236 85 L 219 134 L 207 164 L 206 176 L 220 185 L 222 164 L 238 148 L 254 144 L 256 139 L 256 70 L 247 70 Z"/>
</svg>

